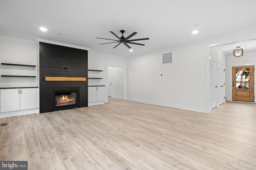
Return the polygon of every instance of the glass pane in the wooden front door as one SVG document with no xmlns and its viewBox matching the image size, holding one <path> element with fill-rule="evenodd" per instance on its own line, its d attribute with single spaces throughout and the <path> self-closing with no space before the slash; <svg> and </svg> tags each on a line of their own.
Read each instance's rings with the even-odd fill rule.
<svg viewBox="0 0 256 170">
<path fill-rule="evenodd" d="M 249 89 L 250 69 L 236 68 L 236 89 Z"/>
</svg>

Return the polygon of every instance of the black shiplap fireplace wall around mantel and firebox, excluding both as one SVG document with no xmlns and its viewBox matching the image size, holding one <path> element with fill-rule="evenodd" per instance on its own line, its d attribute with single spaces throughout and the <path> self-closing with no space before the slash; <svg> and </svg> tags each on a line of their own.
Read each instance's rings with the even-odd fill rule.
<svg viewBox="0 0 256 170">
<path fill-rule="evenodd" d="M 64 70 L 63 66 L 68 66 Z M 79 88 L 79 106 L 88 106 L 88 51 L 39 43 L 40 113 L 53 111 L 52 88 Z M 86 81 L 45 81 L 45 77 L 86 77 Z"/>
</svg>

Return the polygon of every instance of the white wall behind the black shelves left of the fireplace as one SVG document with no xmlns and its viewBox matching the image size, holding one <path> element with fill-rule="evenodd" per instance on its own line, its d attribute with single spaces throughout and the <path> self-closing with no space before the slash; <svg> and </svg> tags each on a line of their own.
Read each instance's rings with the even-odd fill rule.
<svg viewBox="0 0 256 170">
<path fill-rule="evenodd" d="M 0 65 L 0 75 L 36 76 L 0 77 L 0 88 L 38 87 L 38 46 L 35 42 L 0 36 L 0 63 L 36 65 Z"/>
</svg>

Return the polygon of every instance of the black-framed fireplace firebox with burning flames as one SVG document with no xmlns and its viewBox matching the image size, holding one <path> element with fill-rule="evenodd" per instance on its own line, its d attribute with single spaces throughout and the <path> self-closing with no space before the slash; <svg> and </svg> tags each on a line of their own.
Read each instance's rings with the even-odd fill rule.
<svg viewBox="0 0 256 170">
<path fill-rule="evenodd" d="M 53 88 L 54 111 L 76 108 L 78 99 L 79 88 Z"/>
</svg>

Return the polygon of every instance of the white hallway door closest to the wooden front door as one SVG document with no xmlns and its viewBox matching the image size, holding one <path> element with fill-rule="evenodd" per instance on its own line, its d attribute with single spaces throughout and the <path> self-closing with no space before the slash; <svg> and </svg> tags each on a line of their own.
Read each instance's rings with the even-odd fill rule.
<svg viewBox="0 0 256 170">
<path fill-rule="evenodd" d="M 224 65 L 218 63 L 218 105 L 226 102 L 225 100 L 225 70 Z"/>
</svg>

